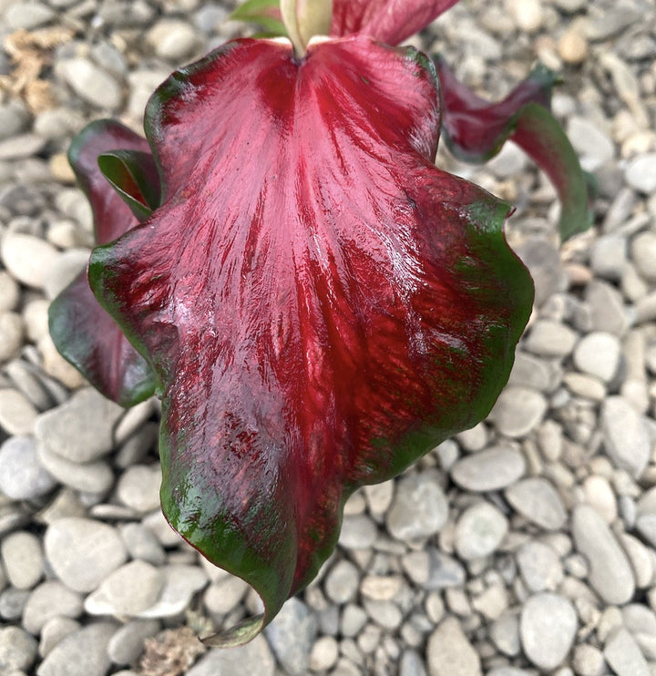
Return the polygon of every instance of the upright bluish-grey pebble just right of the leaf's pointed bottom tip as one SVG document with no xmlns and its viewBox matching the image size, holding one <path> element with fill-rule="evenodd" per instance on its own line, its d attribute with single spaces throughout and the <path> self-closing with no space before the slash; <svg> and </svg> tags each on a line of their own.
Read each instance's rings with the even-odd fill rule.
<svg viewBox="0 0 656 676">
<path fill-rule="evenodd" d="M 318 629 L 317 618 L 299 599 L 285 602 L 281 611 L 264 629 L 273 654 L 282 668 L 293 676 L 304 676 Z"/>
</svg>

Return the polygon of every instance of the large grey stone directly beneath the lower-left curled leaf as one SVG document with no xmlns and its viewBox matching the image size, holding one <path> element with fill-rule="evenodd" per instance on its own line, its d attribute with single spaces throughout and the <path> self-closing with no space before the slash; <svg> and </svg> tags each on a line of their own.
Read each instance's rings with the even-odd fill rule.
<svg viewBox="0 0 656 676">
<path fill-rule="evenodd" d="M 92 387 L 78 390 L 66 404 L 38 416 L 36 438 L 51 453 L 75 463 L 105 456 L 123 409 Z"/>
</svg>

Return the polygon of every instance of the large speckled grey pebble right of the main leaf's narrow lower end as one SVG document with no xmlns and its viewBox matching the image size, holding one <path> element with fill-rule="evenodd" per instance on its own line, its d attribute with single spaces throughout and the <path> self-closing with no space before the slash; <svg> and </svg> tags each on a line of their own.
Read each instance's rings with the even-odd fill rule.
<svg viewBox="0 0 656 676">
<path fill-rule="evenodd" d="M 411 474 L 399 479 L 386 518 L 387 530 L 393 538 L 430 538 L 444 527 L 448 503 L 437 481 L 433 473 Z"/>
</svg>

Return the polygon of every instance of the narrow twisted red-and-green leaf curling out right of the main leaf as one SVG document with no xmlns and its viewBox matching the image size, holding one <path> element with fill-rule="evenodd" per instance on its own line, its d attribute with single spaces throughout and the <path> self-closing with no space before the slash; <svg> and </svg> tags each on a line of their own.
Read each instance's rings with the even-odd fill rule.
<svg viewBox="0 0 656 676">
<path fill-rule="evenodd" d="M 454 155 L 483 162 L 509 138 L 558 190 L 562 240 L 587 230 L 591 223 L 588 183 L 569 138 L 549 111 L 555 74 L 538 66 L 506 98 L 490 103 L 459 82 L 440 56 L 436 68 L 442 86 L 444 138 Z"/>
</svg>

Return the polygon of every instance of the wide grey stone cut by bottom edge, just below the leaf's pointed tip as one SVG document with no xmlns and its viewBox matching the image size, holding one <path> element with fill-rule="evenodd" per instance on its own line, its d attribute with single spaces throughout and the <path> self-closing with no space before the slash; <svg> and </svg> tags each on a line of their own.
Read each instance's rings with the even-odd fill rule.
<svg viewBox="0 0 656 676">
<path fill-rule="evenodd" d="M 239 648 L 210 650 L 187 671 L 187 676 L 234 676 L 238 673 L 274 676 L 275 660 L 263 636 L 256 636 Z"/>
</svg>

